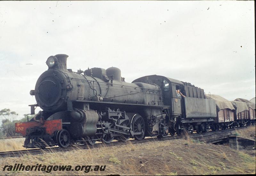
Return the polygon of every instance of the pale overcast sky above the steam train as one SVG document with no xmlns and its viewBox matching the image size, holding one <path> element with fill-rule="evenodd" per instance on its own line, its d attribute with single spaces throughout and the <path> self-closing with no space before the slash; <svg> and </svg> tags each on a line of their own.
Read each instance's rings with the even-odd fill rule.
<svg viewBox="0 0 256 176">
<path fill-rule="evenodd" d="M 1 1 L 0 110 L 30 113 L 29 91 L 60 53 L 73 71 L 113 66 L 126 82 L 163 75 L 250 100 L 254 38 L 254 1 Z"/>
</svg>

